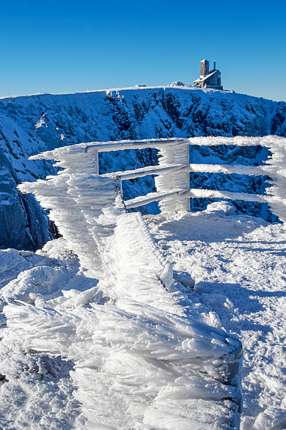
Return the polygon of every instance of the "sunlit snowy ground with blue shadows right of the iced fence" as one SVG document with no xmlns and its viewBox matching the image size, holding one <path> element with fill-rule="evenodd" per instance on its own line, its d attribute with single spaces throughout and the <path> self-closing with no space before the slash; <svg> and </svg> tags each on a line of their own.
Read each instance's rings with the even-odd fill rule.
<svg viewBox="0 0 286 430">
<path fill-rule="evenodd" d="M 286 428 L 286 229 L 226 203 L 176 221 L 146 216 L 175 271 L 191 274 L 196 318 L 243 342 L 242 430 Z"/>
</svg>

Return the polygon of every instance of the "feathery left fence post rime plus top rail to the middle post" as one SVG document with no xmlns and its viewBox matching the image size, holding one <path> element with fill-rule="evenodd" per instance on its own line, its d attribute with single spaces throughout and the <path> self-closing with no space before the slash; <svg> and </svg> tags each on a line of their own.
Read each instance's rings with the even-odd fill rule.
<svg viewBox="0 0 286 430">
<path fill-rule="evenodd" d="M 181 140 L 181 141 L 184 141 Z M 181 142 L 180 141 L 180 142 Z M 125 211 L 121 179 L 98 175 L 98 152 L 126 148 L 177 145 L 177 139 L 155 141 L 81 143 L 31 157 L 54 159 L 59 171 L 46 181 L 22 183 L 23 193 L 34 193 L 91 276 L 102 278 L 102 245 L 112 235 L 116 218 Z M 170 149 L 171 151 L 171 149 Z M 169 151 L 169 152 L 170 152 Z M 156 167 L 155 167 L 156 169 Z"/>
</svg>

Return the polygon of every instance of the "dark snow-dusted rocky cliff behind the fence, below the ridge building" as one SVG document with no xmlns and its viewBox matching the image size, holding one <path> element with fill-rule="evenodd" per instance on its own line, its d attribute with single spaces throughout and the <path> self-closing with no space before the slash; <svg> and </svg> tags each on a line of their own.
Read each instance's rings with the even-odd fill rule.
<svg viewBox="0 0 286 430">
<path fill-rule="evenodd" d="M 22 181 L 55 174 L 52 162 L 29 155 L 88 141 L 189 136 L 286 136 L 286 103 L 235 93 L 182 89 L 130 89 L 0 100 L 0 247 L 37 249 L 51 237 L 46 214 L 31 195 L 20 195 Z M 191 162 L 259 164 L 259 148 L 193 148 Z M 200 161 L 198 161 L 198 159 Z M 209 159 L 210 161 L 207 161 Z M 156 150 L 102 154 L 100 170 L 135 169 L 156 164 Z M 193 174 L 191 186 L 261 192 L 266 178 Z M 154 189 L 151 177 L 123 183 L 125 198 Z M 205 204 L 205 203 L 204 203 Z M 274 221 L 263 205 L 236 202 L 238 211 Z M 203 202 L 192 202 L 193 209 Z M 143 208 L 156 211 L 156 204 Z"/>
</svg>

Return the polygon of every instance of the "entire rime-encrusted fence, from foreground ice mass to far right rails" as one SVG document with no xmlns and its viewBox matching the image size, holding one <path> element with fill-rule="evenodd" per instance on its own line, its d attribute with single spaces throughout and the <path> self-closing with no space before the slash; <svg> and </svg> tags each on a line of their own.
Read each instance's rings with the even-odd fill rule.
<svg viewBox="0 0 286 430">
<path fill-rule="evenodd" d="M 189 210 L 190 197 L 238 198 L 269 201 L 284 220 L 285 141 L 268 136 L 82 143 L 34 157 L 56 159 L 64 170 L 20 189 L 51 209 L 50 218 L 89 275 L 100 279 L 109 303 L 75 308 L 68 316 L 9 305 L 6 315 L 8 327 L 29 347 L 75 361 L 72 377 L 84 415 L 78 428 L 114 426 L 114 417 L 118 429 L 189 429 L 190 422 L 194 428 L 238 428 L 240 342 L 184 317 L 170 263 L 142 215 L 126 214 L 125 207 L 161 201 L 162 211 L 172 214 Z M 266 145 L 273 157 L 259 168 L 204 164 L 203 171 L 268 174 L 275 181 L 272 196 L 189 190 L 189 172 L 199 169 L 189 164 L 189 145 L 224 144 Z M 161 155 L 158 167 L 98 175 L 98 152 L 150 146 Z M 158 174 L 156 193 L 124 204 L 121 178 L 150 172 Z"/>
</svg>

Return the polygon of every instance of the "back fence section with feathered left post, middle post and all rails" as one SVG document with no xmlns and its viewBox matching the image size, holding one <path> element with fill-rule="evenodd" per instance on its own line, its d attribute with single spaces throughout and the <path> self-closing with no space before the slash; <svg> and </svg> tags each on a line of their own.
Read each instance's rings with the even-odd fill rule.
<svg viewBox="0 0 286 430">
<path fill-rule="evenodd" d="M 238 164 L 190 164 L 189 145 L 264 146 L 271 157 L 259 167 Z M 196 137 L 149 139 L 142 141 L 79 143 L 34 155 L 32 159 L 55 159 L 63 168 L 48 181 L 24 183 L 20 190 L 34 193 L 41 205 L 50 209 L 50 219 L 72 245 L 81 265 L 99 276 L 102 270 L 102 237 L 114 232 L 116 216 L 133 207 L 159 202 L 162 211 L 189 211 L 192 197 L 223 198 L 267 202 L 274 214 L 286 221 L 286 139 L 265 137 Z M 99 175 L 98 153 L 127 149 L 156 148 L 158 165 L 129 171 Z M 271 187 L 266 195 L 232 193 L 189 187 L 190 171 L 271 176 Z M 149 174 L 156 175 L 156 192 L 123 202 L 122 181 Z M 83 240 L 84 237 L 84 240 Z"/>
</svg>

